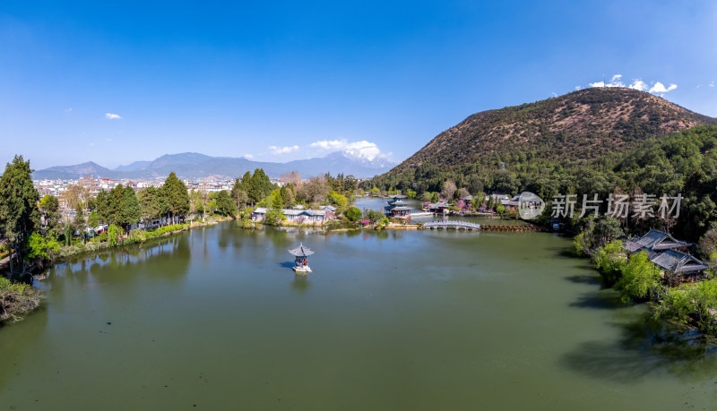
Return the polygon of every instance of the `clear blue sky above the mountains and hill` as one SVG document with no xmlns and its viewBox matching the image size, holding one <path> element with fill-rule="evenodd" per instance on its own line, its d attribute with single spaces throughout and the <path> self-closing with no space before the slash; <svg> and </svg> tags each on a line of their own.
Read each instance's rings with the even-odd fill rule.
<svg viewBox="0 0 717 411">
<path fill-rule="evenodd" d="M 717 116 L 713 1 L 233 3 L 4 0 L 0 162 L 402 160 L 615 75 Z"/>
</svg>

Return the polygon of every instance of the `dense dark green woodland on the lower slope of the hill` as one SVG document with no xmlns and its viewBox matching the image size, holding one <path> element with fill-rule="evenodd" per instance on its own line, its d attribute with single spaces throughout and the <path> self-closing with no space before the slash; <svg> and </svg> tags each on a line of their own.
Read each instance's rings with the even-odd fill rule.
<svg viewBox="0 0 717 411">
<path fill-rule="evenodd" d="M 668 229 L 687 240 L 698 240 L 717 221 L 717 127 L 698 126 L 644 141 L 640 147 L 609 153 L 590 161 L 535 158 L 516 152 L 511 156 L 479 159 L 471 164 L 437 167 L 423 164 L 401 175 L 377 176 L 361 186 L 380 190 L 415 190 L 418 195 L 441 192 L 446 181 L 469 193 L 518 194 L 529 191 L 549 202 L 559 194 L 642 193 L 676 196 L 684 200 L 677 221 L 660 218 L 623 219 L 626 231 L 650 227 Z M 455 193 L 458 193 L 456 191 Z M 607 208 L 607 204 L 603 204 Z M 576 210 L 580 209 L 580 201 Z M 656 208 L 655 208 L 656 209 Z M 547 212 L 550 208 L 546 209 Z M 605 210 L 601 210 L 604 212 Z M 577 213 L 576 213 L 577 214 Z M 570 221 L 580 226 L 579 221 Z"/>
</svg>

